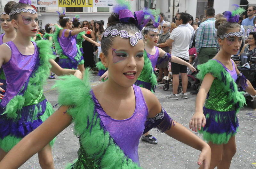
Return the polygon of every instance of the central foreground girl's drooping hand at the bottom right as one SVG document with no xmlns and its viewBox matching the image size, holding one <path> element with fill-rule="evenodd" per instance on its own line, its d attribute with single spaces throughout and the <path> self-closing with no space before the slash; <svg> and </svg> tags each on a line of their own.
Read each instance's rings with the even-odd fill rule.
<svg viewBox="0 0 256 169">
<path fill-rule="evenodd" d="M 204 164 L 204 169 L 209 169 L 210 163 L 211 163 L 211 148 L 208 144 L 205 143 L 205 146 L 203 147 L 199 158 L 197 160 L 198 165 Z"/>
</svg>

